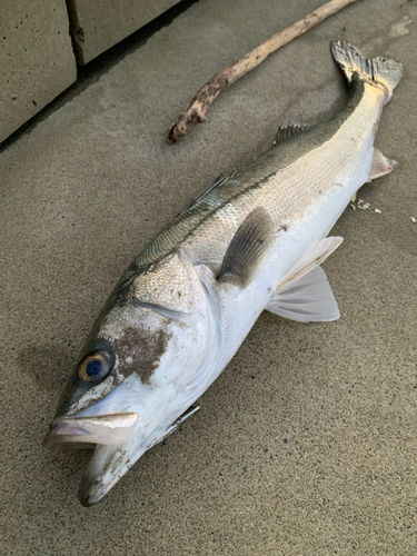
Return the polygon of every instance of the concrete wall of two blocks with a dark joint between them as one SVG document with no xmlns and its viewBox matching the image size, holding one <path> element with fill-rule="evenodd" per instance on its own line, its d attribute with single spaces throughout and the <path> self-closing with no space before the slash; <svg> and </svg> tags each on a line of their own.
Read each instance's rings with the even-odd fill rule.
<svg viewBox="0 0 417 556">
<path fill-rule="evenodd" d="M 178 1 L 0 0 L 0 142 L 77 80 L 77 63 Z"/>
</svg>

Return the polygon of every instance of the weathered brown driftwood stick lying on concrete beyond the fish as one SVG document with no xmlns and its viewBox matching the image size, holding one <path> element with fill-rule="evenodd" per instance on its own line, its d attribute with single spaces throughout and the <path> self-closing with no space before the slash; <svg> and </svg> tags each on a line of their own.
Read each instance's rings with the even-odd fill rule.
<svg viewBox="0 0 417 556">
<path fill-rule="evenodd" d="M 300 19 L 291 27 L 287 27 L 284 31 L 274 34 L 270 39 L 262 42 L 259 47 L 248 52 L 244 58 L 240 58 L 229 68 L 225 68 L 215 77 L 212 77 L 198 91 L 195 98 L 189 103 L 187 110 L 178 116 L 167 131 L 169 142 L 176 142 L 196 123 L 206 121 L 206 112 L 216 99 L 216 97 L 229 85 L 237 81 L 240 77 L 248 73 L 250 70 L 259 66 L 269 54 L 279 48 L 288 44 L 292 39 L 300 37 L 312 27 L 320 23 L 324 19 L 332 16 L 346 6 L 356 2 L 357 0 L 332 0 L 318 8 L 312 13 L 309 13 L 304 19 Z"/>
</svg>

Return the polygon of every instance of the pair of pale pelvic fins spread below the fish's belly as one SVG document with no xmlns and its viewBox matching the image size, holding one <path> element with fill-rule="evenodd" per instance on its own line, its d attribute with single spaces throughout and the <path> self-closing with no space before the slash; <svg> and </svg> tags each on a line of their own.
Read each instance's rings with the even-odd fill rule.
<svg viewBox="0 0 417 556">
<path fill-rule="evenodd" d="M 312 244 L 280 279 L 267 309 L 299 322 L 338 319 L 335 296 L 319 265 L 341 241 L 342 238 L 334 237 Z"/>
</svg>

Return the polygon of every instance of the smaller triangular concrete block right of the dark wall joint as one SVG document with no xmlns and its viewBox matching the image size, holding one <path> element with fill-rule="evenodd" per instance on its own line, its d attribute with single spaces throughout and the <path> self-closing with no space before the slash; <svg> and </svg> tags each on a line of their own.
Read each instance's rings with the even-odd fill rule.
<svg viewBox="0 0 417 556">
<path fill-rule="evenodd" d="M 79 63 L 117 44 L 179 0 L 69 0 Z"/>
</svg>

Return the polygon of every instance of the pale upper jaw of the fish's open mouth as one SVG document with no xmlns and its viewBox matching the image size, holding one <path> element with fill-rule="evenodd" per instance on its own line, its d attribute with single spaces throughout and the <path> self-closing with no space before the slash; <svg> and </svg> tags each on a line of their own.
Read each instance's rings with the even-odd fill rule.
<svg viewBox="0 0 417 556">
<path fill-rule="evenodd" d="M 52 421 L 42 446 L 51 451 L 123 446 L 133 435 L 137 420 L 138 414 L 133 411 L 62 417 Z"/>
</svg>

